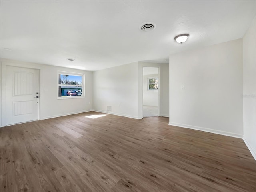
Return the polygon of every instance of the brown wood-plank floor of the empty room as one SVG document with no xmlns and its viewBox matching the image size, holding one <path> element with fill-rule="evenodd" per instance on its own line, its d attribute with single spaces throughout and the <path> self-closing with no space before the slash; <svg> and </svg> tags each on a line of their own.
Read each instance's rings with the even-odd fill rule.
<svg viewBox="0 0 256 192">
<path fill-rule="evenodd" d="M 98 114 L 1 128 L 1 192 L 256 191 L 242 139 Z"/>
</svg>

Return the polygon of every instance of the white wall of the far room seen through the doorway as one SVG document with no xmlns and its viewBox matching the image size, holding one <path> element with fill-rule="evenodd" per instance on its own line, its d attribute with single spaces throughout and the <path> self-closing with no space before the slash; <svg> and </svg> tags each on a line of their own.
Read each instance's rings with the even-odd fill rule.
<svg viewBox="0 0 256 192">
<path fill-rule="evenodd" d="M 157 78 L 158 74 L 143 76 L 143 105 L 158 106 L 158 90 L 148 90 L 148 78 L 152 77 Z"/>
</svg>

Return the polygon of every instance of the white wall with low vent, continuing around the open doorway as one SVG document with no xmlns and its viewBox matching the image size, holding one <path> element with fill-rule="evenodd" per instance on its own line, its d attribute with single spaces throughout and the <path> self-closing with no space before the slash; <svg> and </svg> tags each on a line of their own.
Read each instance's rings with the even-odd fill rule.
<svg viewBox="0 0 256 192">
<path fill-rule="evenodd" d="M 93 72 L 93 110 L 143 118 L 143 67 L 159 68 L 160 116 L 169 116 L 169 64 L 134 62 Z M 161 79 L 162 78 L 162 79 Z"/>
</svg>

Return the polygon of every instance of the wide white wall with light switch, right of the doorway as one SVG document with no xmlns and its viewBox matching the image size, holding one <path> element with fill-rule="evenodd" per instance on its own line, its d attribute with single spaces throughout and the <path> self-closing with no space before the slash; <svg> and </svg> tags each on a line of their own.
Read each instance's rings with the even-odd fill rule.
<svg viewBox="0 0 256 192">
<path fill-rule="evenodd" d="M 242 138 L 242 62 L 242 39 L 170 55 L 169 124 Z"/>
</svg>

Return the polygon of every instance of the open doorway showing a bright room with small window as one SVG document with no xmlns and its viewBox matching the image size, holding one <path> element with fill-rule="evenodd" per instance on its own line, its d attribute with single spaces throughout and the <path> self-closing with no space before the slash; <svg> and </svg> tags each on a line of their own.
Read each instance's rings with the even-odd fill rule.
<svg viewBox="0 0 256 192">
<path fill-rule="evenodd" d="M 158 67 L 143 67 L 143 117 L 159 116 Z"/>
</svg>

